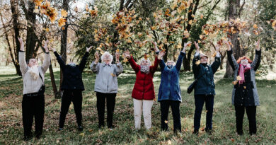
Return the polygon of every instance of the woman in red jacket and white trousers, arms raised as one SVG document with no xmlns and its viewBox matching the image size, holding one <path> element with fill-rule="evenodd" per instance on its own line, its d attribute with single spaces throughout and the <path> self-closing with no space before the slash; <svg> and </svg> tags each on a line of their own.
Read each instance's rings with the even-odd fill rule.
<svg viewBox="0 0 276 145">
<path fill-rule="evenodd" d="M 130 52 L 125 52 L 125 57 L 128 59 L 128 62 L 130 62 L 136 74 L 136 81 L 132 91 L 136 129 L 141 128 L 142 112 L 144 116 L 144 126 L 146 129 L 151 128 L 151 107 L 155 98 L 154 83 L 152 79 L 163 54 L 164 52 L 160 52 L 159 57 L 155 57 L 154 66 L 151 66 L 151 62 L 147 57 L 143 58 L 141 64 L 138 65 L 130 55 Z"/>
</svg>

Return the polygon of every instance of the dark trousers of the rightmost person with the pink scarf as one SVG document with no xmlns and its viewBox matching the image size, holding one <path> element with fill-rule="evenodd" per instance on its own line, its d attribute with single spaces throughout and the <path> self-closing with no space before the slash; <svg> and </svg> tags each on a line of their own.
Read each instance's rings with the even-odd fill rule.
<svg viewBox="0 0 276 145">
<path fill-rule="evenodd" d="M 256 134 L 256 106 L 239 106 L 235 105 L 236 110 L 236 132 L 238 134 L 243 134 L 243 116 L 244 110 L 246 110 L 246 115 L 249 121 L 249 134 Z"/>
</svg>

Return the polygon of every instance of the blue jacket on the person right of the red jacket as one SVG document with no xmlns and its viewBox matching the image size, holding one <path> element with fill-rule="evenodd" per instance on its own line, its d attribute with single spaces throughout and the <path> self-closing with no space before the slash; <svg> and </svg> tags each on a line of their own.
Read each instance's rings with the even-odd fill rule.
<svg viewBox="0 0 276 145">
<path fill-rule="evenodd" d="M 185 53 L 180 52 L 176 65 L 171 67 L 166 66 L 163 60 L 161 60 L 161 62 L 159 63 L 161 67 L 161 83 L 159 87 L 158 101 L 182 101 L 179 86 L 179 71 L 184 57 Z"/>
</svg>

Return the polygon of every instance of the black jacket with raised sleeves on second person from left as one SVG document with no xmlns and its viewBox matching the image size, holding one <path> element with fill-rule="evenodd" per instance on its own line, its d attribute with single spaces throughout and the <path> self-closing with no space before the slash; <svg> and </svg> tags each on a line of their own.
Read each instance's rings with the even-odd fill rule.
<svg viewBox="0 0 276 145">
<path fill-rule="evenodd" d="M 84 54 L 81 59 L 81 63 L 76 66 L 65 65 L 62 61 L 62 57 L 57 52 L 54 52 L 59 62 L 60 68 L 62 69 L 62 90 L 81 90 L 84 91 L 84 83 L 82 82 L 82 71 L 88 58 L 88 52 Z"/>
</svg>

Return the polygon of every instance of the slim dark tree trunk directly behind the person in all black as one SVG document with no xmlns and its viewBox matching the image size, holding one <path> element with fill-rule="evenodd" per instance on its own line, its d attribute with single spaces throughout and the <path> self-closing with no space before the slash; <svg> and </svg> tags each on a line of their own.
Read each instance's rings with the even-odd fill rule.
<svg viewBox="0 0 276 145">
<path fill-rule="evenodd" d="M 63 0 L 63 4 L 62 4 L 62 9 L 64 9 L 65 11 L 68 11 L 69 8 L 69 0 Z M 67 21 L 67 18 L 65 18 Z M 64 29 L 62 29 L 62 35 L 61 35 L 61 46 L 60 46 L 60 54 L 62 57 L 63 62 L 66 64 L 67 62 L 67 32 L 68 32 L 68 24 L 67 22 L 64 25 Z M 60 96 L 62 96 L 62 91 L 61 91 L 61 87 L 62 87 L 62 79 L 63 79 L 63 75 L 62 75 L 62 69 L 60 69 L 60 85 L 59 85 L 59 93 Z"/>
</svg>

